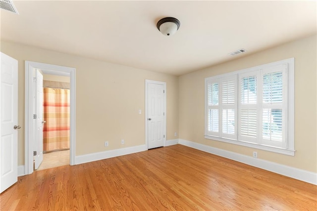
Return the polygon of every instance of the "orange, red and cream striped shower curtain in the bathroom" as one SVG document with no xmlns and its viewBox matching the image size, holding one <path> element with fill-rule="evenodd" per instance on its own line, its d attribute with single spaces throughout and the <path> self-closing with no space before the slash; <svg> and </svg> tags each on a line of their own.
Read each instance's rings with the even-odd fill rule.
<svg viewBox="0 0 317 211">
<path fill-rule="evenodd" d="M 69 149 L 69 90 L 44 89 L 43 151 Z"/>
</svg>

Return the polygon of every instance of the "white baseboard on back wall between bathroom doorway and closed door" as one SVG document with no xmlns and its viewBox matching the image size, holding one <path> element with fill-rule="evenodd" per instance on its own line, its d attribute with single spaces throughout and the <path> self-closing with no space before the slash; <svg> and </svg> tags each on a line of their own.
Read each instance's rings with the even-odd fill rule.
<svg viewBox="0 0 317 211">
<path fill-rule="evenodd" d="M 139 153 L 142 151 L 146 151 L 145 145 L 135 146 L 135 147 L 127 147 L 117 150 L 109 150 L 104 151 L 100 153 L 92 153 L 92 154 L 86 154 L 82 156 L 76 156 L 75 157 L 75 164 L 81 164 L 86 162 L 92 162 L 96 160 L 106 159 L 106 158 L 113 158 L 117 156 L 124 156 L 132 153 Z"/>
</svg>

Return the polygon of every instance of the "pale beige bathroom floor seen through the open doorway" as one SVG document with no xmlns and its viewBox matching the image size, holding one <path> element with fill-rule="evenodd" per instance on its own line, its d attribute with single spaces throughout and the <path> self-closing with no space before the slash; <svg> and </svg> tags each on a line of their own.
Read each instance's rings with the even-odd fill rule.
<svg viewBox="0 0 317 211">
<path fill-rule="evenodd" d="M 61 165 L 69 165 L 69 150 L 55 151 L 43 154 L 43 162 L 38 170 L 53 168 Z"/>
</svg>

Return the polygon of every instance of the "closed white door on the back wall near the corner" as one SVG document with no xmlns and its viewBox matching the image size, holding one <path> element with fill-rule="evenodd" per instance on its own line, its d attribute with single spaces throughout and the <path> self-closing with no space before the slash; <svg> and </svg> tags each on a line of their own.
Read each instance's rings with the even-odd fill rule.
<svg viewBox="0 0 317 211">
<path fill-rule="evenodd" d="M 148 84 L 148 149 L 164 146 L 164 86 Z"/>
</svg>

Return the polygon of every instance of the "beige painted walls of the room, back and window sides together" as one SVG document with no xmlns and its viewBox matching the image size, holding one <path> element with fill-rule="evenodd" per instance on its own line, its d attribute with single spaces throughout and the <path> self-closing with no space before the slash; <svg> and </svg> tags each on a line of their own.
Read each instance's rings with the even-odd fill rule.
<svg viewBox="0 0 317 211">
<path fill-rule="evenodd" d="M 295 156 L 261 150 L 258 157 L 317 172 L 317 37 L 311 36 L 180 77 L 106 63 L 25 45 L 1 42 L 18 60 L 19 124 L 24 128 L 24 61 L 76 68 L 76 155 L 145 144 L 145 79 L 167 83 L 167 140 L 181 138 L 252 156 L 254 149 L 204 138 L 204 79 L 295 57 Z M 142 114 L 138 114 L 142 109 Z M 179 128 L 179 131 L 178 131 Z M 174 137 L 178 132 L 179 137 Z M 125 145 L 120 140 L 125 139 Z M 109 141 L 109 147 L 104 147 Z M 24 164 L 24 129 L 18 134 Z"/>
</svg>

